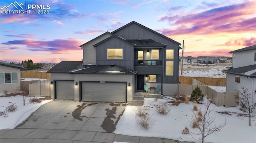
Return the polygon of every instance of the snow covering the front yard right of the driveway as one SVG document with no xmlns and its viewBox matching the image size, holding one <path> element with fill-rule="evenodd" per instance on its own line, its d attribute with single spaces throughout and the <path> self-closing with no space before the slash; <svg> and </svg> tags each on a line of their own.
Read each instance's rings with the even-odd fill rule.
<svg viewBox="0 0 256 143">
<path fill-rule="evenodd" d="M 206 100 L 206 98 L 204 99 Z M 132 136 L 144 137 L 161 137 L 167 139 L 176 139 L 179 141 L 201 142 L 192 138 L 191 135 L 182 134 L 185 127 L 189 131 L 195 130 L 189 124 L 192 115 L 193 104 L 181 103 L 178 106 L 170 106 L 171 111 L 167 115 L 160 115 L 156 112 L 154 106 L 166 103 L 168 100 L 158 99 L 157 102 L 152 98 L 144 98 L 144 106 L 148 107 L 149 116 L 154 120 L 154 124 L 148 130 L 141 129 L 136 123 L 136 115 L 134 109 L 136 106 L 126 106 L 123 116 L 116 125 L 114 133 Z M 198 104 L 198 107 L 204 111 L 204 104 Z M 215 108 L 214 108 L 215 107 Z M 208 135 L 205 142 L 212 143 L 256 143 L 256 118 L 252 118 L 251 126 L 249 126 L 248 117 L 238 116 L 237 113 L 244 113 L 239 107 L 220 107 L 211 104 L 210 108 L 214 108 L 212 116 L 215 117 L 216 125 L 224 123 L 227 119 L 227 125 L 216 134 Z M 217 112 L 229 112 L 231 115 L 220 114 Z M 247 113 L 245 113 L 247 114 Z M 198 139 L 200 136 L 193 135 Z"/>
</svg>

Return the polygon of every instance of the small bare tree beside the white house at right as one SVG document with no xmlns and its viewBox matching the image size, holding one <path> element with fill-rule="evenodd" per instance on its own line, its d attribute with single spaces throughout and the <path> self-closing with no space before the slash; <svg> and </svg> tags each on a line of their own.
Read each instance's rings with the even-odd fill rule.
<svg viewBox="0 0 256 143">
<path fill-rule="evenodd" d="M 249 112 L 249 125 L 251 125 L 251 113 L 253 112 L 253 110 L 256 108 L 256 100 L 253 98 L 253 96 L 251 97 L 251 94 L 248 92 L 248 89 L 242 87 L 242 92 L 239 90 L 236 90 L 239 92 L 240 96 L 236 96 L 235 99 L 238 99 L 238 104 L 240 104 L 240 106 L 246 108 Z"/>
</svg>

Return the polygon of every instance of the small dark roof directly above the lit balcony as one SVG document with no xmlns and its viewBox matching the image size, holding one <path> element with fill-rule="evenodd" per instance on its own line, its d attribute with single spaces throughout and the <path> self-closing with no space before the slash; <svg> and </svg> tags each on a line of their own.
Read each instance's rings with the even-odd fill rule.
<svg viewBox="0 0 256 143">
<path fill-rule="evenodd" d="M 163 43 L 160 43 L 158 41 L 154 41 L 152 39 L 147 39 L 147 40 L 126 40 L 132 44 L 134 44 L 135 46 L 166 46 Z"/>
</svg>

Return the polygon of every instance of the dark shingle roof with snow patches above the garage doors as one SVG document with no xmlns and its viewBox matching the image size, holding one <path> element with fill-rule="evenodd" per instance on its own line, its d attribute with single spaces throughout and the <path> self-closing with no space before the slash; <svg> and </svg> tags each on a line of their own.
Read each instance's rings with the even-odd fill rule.
<svg viewBox="0 0 256 143">
<path fill-rule="evenodd" d="M 82 61 L 61 61 L 47 73 L 69 74 L 136 74 L 117 65 L 83 65 Z"/>
</svg>

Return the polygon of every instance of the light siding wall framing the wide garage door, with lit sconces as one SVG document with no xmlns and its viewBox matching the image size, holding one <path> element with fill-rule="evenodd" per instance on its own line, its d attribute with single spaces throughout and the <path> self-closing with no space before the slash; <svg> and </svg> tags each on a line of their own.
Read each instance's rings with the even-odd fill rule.
<svg viewBox="0 0 256 143">
<path fill-rule="evenodd" d="M 134 94 L 134 75 L 133 74 L 75 74 L 74 82 L 80 81 L 115 81 L 115 82 L 127 82 L 131 86 L 127 86 L 127 102 L 132 102 Z M 97 87 L 95 87 L 97 88 Z M 115 87 L 113 87 L 115 88 Z M 79 101 L 79 85 L 75 86 L 75 100 Z"/>
</svg>

